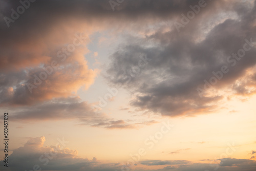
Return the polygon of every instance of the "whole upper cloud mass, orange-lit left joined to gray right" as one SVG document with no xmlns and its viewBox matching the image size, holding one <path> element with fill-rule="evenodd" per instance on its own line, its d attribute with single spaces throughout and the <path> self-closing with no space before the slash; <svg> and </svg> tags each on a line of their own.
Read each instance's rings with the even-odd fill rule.
<svg viewBox="0 0 256 171">
<path fill-rule="evenodd" d="M 62 1 L 61 5 L 58 1 L 37 1 L 10 28 L 3 16 L 10 16 L 10 9 L 16 9 L 20 3 L 4 1 L 3 4 L 6 8 L 0 12 L 2 105 L 34 105 L 68 98 L 82 87 L 88 89 L 98 70 L 91 70 L 87 65 L 86 45 L 91 41 L 90 35 L 106 30 L 114 30 L 112 34 L 116 37 L 125 34 L 127 38 L 111 56 L 106 79 L 137 92 L 132 94 L 131 104 L 141 110 L 164 116 L 205 114 L 219 109 L 225 98 L 221 91 L 230 90 L 230 84 L 236 95 L 254 93 L 251 91 L 255 85 L 253 74 L 246 77 L 244 74 L 255 64 L 255 48 L 246 52 L 246 60 L 237 61 L 236 69 L 230 68 L 219 81 L 215 86 L 218 93 L 205 93 L 200 98 L 196 91 L 204 85 L 204 79 L 212 76 L 212 71 L 227 65 L 225 59 L 243 46 L 245 38 L 253 37 L 254 19 L 250 16 L 254 15 L 255 7 L 252 5 L 240 1 L 207 2 L 182 33 L 177 34 L 170 24 L 198 1 L 129 1 L 116 7 L 115 12 L 106 1 Z M 66 54 L 67 59 L 62 61 L 57 53 L 67 50 L 74 43 L 75 35 L 81 32 L 84 33 L 82 45 L 75 47 L 72 54 Z M 138 64 L 141 53 L 151 61 L 127 83 L 124 72 Z M 44 68 L 55 60 L 59 68 L 30 93 L 26 85 L 33 84 L 34 75 L 45 72 Z M 245 81 L 237 82 L 241 77 Z"/>
</svg>

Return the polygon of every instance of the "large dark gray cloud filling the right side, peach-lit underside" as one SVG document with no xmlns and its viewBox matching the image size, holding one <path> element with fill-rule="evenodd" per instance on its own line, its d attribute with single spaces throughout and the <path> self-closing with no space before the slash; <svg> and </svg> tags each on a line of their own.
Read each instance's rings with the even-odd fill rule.
<svg viewBox="0 0 256 171">
<path fill-rule="evenodd" d="M 174 27 L 167 32 L 155 29 L 144 37 L 131 36 L 110 57 L 106 79 L 131 92 L 131 105 L 167 116 L 214 112 L 228 95 L 254 94 L 254 75 L 247 73 L 255 73 L 254 45 L 241 59 L 228 60 L 232 53 L 243 49 L 245 39 L 256 41 L 256 27 L 252 24 L 255 17 L 251 17 L 255 16 L 256 7 L 238 2 L 219 9 L 207 7 L 179 33 Z M 215 23 L 207 23 L 211 18 Z M 137 65 L 140 53 L 151 60 L 138 75 L 127 76 L 127 71 Z M 200 97 L 197 89 L 203 90 L 204 80 L 209 82 L 212 72 L 221 71 L 222 66 L 227 67 L 228 73 L 212 86 L 213 90 L 203 91 Z M 224 96 L 221 91 L 229 94 Z"/>
</svg>

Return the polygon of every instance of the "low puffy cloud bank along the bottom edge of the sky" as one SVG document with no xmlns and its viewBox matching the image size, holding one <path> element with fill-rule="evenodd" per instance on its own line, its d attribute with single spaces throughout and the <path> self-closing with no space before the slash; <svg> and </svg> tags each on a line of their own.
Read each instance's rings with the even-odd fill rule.
<svg viewBox="0 0 256 171">
<path fill-rule="evenodd" d="M 55 145 L 44 146 L 46 139 L 44 136 L 30 138 L 24 146 L 16 148 L 9 156 L 8 168 L 1 165 L 1 170 L 30 170 L 36 167 L 42 170 L 89 170 L 89 171 L 111 171 L 122 170 L 124 167 L 120 163 L 103 163 L 94 157 L 92 160 L 79 158 L 78 151 L 69 149 L 69 144 L 65 138 L 57 138 Z M 256 162 L 247 159 L 220 159 L 221 164 L 218 167 L 220 171 L 253 171 L 256 168 Z M 3 161 L 1 161 L 3 162 Z M 216 164 L 211 163 L 191 163 L 187 160 L 144 160 L 138 165 L 146 166 L 164 166 L 159 169 L 147 169 L 151 171 L 164 171 L 172 169 L 174 171 L 204 171 L 205 169 L 214 169 Z M 233 167 L 236 166 L 236 167 Z M 141 167 L 133 168 L 136 171 L 145 170 Z"/>
</svg>

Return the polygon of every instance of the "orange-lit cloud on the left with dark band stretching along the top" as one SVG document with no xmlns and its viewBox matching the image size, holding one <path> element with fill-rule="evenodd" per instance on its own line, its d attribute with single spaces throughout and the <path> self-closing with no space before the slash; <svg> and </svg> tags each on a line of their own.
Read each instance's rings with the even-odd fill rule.
<svg viewBox="0 0 256 171">
<path fill-rule="evenodd" d="M 113 12 L 106 1 L 62 1 L 61 5 L 58 1 L 36 1 L 8 28 L 4 16 L 11 17 L 11 9 L 17 9 L 20 2 L 3 1 L 0 11 L 1 106 L 36 106 L 75 96 L 80 88 L 88 89 L 98 74 L 97 69 L 88 67 L 84 58 L 89 52 L 90 35 L 110 29 L 119 33 L 140 32 L 148 24 L 175 18 L 189 10 L 189 5 L 196 4 L 197 1 L 129 1 Z M 218 3 L 210 4 L 218 9 Z M 138 22 L 134 23 L 134 17 Z M 131 23 L 133 28 L 127 27 Z M 78 42 L 81 44 L 75 46 Z M 53 68 L 52 62 L 58 67 Z M 42 73 L 46 74 L 46 79 L 41 79 Z"/>
</svg>

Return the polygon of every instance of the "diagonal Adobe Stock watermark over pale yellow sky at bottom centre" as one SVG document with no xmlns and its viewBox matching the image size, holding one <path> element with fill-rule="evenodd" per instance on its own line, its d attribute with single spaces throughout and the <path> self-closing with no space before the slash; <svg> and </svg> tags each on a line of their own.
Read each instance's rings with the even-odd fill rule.
<svg viewBox="0 0 256 171">
<path fill-rule="evenodd" d="M 138 153 L 130 154 L 131 159 L 127 160 L 126 164 L 121 163 L 121 171 L 131 170 L 131 167 L 138 163 L 142 156 L 146 155 L 147 150 L 152 149 L 155 146 L 155 144 L 158 143 L 159 140 L 161 140 L 164 137 L 164 135 L 166 135 L 172 129 L 172 127 L 174 127 L 173 124 L 170 124 L 169 120 L 167 122 L 162 122 L 162 124 L 163 125 L 161 126 L 159 131 L 157 131 L 153 135 L 148 136 L 148 138 L 144 140 L 145 147 L 140 147 L 138 149 Z"/>
</svg>

